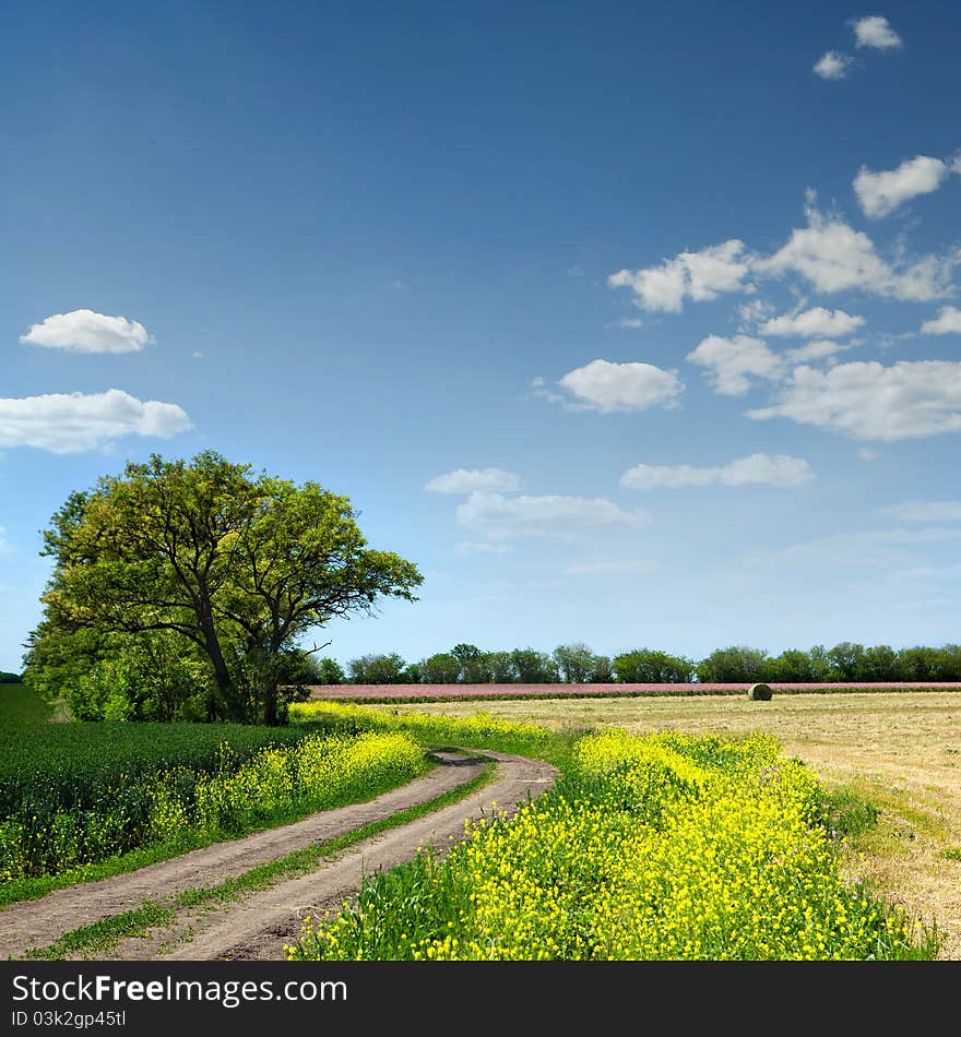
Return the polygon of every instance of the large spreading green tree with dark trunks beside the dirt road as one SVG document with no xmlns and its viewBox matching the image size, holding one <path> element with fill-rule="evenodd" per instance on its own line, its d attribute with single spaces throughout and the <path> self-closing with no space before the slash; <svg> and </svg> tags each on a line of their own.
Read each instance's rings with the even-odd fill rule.
<svg viewBox="0 0 961 1037">
<path fill-rule="evenodd" d="M 356 517 L 317 482 L 254 474 L 214 451 L 190 463 L 154 454 L 54 515 L 45 621 L 168 631 L 210 667 L 216 715 L 277 724 L 300 637 L 383 596 L 416 600 L 416 565 L 369 548 Z"/>
</svg>

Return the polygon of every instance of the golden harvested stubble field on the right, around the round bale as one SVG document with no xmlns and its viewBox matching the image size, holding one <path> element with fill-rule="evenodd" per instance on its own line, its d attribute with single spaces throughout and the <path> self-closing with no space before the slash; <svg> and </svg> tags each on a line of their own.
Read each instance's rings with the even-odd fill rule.
<svg viewBox="0 0 961 1037">
<path fill-rule="evenodd" d="M 475 713 L 576 730 L 621 727 L 732 736 L 763 731 L 784 753 L 879 808 L 849 855 L 854 874 L 926 923 L 941 957 L 961 961 L 961 691 L 744 696 L 536 699 L 391 705 L 399 713 Z"/>
</svg>

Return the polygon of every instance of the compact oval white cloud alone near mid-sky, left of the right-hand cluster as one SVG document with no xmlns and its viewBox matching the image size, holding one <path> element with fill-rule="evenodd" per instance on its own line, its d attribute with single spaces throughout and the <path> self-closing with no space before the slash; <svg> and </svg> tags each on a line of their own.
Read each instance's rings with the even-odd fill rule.
<svg viewBox="0 0 961 1037">
<path fill-rule="evenodd" d="M 652 363 L 613 363 L 609 360 L 592 360 L 584 367 L 568 371 L 558 380 L 558 385 L 573 396 L 569 406 L 604 414 L 676 407 L 684 392 L 676 371 L 665 371 Z M 544 395 L 557 400 L 557 394 Z"/>
</svg>

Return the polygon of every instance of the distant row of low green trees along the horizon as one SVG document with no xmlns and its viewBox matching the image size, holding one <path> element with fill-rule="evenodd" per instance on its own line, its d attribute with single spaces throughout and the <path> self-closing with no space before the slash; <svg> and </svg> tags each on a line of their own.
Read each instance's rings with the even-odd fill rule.
<svg viewBox="0 0 961 1037">
<path fill-rule="evenodd" d="M 690 659 L 656 648 L 633 648 L 612 657 L 580 643 L 558 645 L 553 652 L 485 652 L 473 644 L 458 644 L 417 661 L 392 652 L 352 659 L 346 670 L 329 658 L 316 666 L 321 684 L 940 683 L 961 681 L 961 645 L 892 648 L 843 641 L 832 648 L 815 645 L 780 655 L 732 645 Z"/>
</svg>

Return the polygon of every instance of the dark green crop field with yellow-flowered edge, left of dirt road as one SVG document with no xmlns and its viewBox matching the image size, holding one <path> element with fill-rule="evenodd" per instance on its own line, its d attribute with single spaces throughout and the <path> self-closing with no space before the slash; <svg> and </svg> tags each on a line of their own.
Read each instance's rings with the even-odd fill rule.
<svg viewBox="0 0 961 1037">
<path fill-rule="evenodd" d="M 349 720 L 54 724 L 28 688 L 5 689 L 0 903 L 365 801 L 431 766 L 411 736 Z"/>
</svg>

